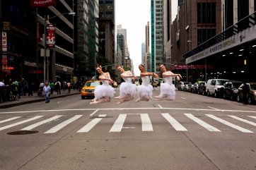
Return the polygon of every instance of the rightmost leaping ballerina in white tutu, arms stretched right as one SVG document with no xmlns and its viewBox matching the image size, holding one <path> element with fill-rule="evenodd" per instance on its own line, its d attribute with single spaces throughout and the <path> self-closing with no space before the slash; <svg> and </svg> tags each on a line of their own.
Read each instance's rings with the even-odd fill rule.
<svg viewBox="0 0 256 170">
<path fill-rule="evenodd" d="M 161 66 L 161 71 L 163 73 L 165 83 L 161 83 L 160 95 L 156 96 L 156 98 L 173 101 L 175 99 L 175 85 L 173 85 L 173 77 L 178 77 L 180 80 L 182 79 L 182 76 L 180 74 L 174 74 L 171 71 L 166 71 L 165 66 Z"/>
</svg>

